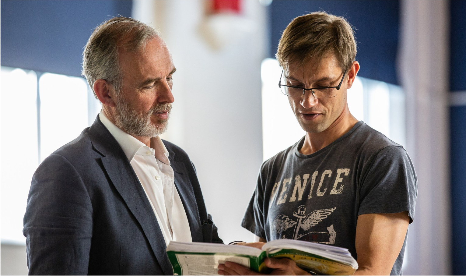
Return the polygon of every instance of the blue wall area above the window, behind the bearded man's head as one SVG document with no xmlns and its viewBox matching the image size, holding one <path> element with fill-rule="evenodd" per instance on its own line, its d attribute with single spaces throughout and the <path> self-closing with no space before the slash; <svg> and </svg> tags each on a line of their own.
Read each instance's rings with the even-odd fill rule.
<svg viewBox="0 0 466 276">
<path fill-rule="evenodd" d="M 81 76 L 82 51 L 104 20 L 131 15 L 130 0 L 1 0 L 0 64 Z"/>
</svg>

